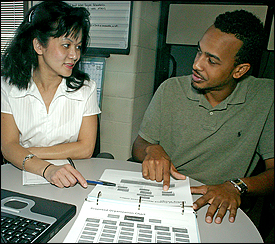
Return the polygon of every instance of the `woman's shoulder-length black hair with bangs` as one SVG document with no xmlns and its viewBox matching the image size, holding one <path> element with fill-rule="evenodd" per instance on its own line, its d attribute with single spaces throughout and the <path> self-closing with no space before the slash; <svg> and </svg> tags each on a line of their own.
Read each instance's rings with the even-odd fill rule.
<svg viewBox="0 0 275 244">
<path fill-rule="evenodd" d="M 27 89 L 31 71 L 38 67 L 38 56 L 33 48 L 33 39 L 47 47 L 50 37 L 65 35 L 77 37 L 82 30 L 81 54 L 86 52 L 89 41 L 90 13 L 84 7 L 72 7 L 62 1 L 44 1 L 28 11 L 17 28 L 15 36 L 2 56 L 1 75 L 9 84 Z M 66 78 L 68 88 L 78 90 L 89 80 L 88 74 L 79 69 L 79 62 L 72 75 Z"/>
</svg>

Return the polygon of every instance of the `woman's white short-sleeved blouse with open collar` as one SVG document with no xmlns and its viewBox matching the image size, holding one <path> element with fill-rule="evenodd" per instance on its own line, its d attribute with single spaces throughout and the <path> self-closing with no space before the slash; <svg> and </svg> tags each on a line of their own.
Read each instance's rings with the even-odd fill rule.
<svg viewBox="0 0 275 244">
<path fill-rule="evenodd" d="M 99 114 L 95 81 L 74 92 L 60 83 L 47 113 L 41 94 L 32 81 L 27 90 L 9 85 L 1 77 L 1 112 L 12 114 L 25 147 L 46 147 L 76 142 L 83 116 Z"/>
</svg>

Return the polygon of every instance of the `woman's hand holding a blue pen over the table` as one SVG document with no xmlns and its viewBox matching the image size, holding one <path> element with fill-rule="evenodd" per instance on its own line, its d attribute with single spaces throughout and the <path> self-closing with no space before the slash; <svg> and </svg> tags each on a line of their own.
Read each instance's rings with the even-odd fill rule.
<svg viewBox="0 0 275 244">
<path fill-rule="evenodd" d="M 87 187 L 87 181 L 70 164 L 60 166 L 51 165 L 45 172 L 45 178 L 53 185 L 60 188 L 74 186 L 79 182 L 84 188 Z"/>
</svg>

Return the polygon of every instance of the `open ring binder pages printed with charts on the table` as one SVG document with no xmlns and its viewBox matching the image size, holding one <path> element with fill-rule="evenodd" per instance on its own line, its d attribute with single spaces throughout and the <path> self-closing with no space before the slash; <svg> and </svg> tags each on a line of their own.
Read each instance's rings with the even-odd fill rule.
<svg viewBox="0 0 275 244">
<path fill-rule="evenodd" d="M 200 242 L 188 177 L 168 191 L 141 172 L 106 169 L 100 180 L 116 186 L 95 186 L 65 243 Z"/>
</svg>

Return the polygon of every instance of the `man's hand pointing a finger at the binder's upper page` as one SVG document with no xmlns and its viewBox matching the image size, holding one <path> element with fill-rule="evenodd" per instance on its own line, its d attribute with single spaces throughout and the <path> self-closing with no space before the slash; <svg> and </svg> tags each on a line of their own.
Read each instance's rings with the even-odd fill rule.
<svg viewBox="0 0 275 244">
<path fill-rule="evenodd" d="M 179 180 L 186 177 L 180 174 L 171 163 L 170 157 L 160 145 L 151 145 L 146 148 L 146 156 L 142 163 L 142 174 L 145 179 L 163 180 L 163 190 L 167 191 L 170 186 L 170 174 Z"/>
</svg>

